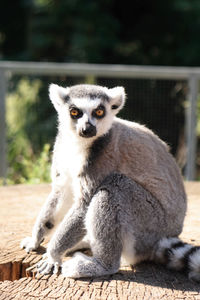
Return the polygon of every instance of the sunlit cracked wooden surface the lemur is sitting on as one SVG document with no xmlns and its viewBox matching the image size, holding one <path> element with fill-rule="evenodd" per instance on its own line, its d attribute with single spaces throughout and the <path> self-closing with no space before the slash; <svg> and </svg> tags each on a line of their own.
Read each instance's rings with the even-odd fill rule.
<svg viewBox="0 0 200 300">
<path fill-rule="evenodd" d="M 182 239 L 200 245 L 200 183 L 187 183 L 188 214 Z M 143 263 L 112 276 L 73 280 L 62 275 L 33 276 L 26 271 L 45 250 L 20 250 L 50 191 L 49 185 L 0 187 L 0 300 L 2 299 L 189 299 L 200 300 L 200 284 L 164 266 Z M 70 203 L 69 203 L 70 206 Z"/>
</svg>

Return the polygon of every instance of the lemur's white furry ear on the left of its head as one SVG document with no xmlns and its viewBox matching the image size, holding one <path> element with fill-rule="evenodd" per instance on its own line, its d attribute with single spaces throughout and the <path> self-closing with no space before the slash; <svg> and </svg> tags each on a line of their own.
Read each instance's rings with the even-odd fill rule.
<svg viewBox="0 0 200 300">
<path fill-rule="evenodd" d="M 66 103 L 68 94 L 69 88 L 63 88 L 53 83 L 49 86 L 49 98 L 57 111 Z"/>
</svg>

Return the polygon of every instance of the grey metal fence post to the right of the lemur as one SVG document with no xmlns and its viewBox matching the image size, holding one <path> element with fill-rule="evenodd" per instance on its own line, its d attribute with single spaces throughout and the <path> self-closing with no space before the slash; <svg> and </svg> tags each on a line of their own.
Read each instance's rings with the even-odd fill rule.
<svg viewBox="0 0 200 300">
<path fill-rule="evenodd" d="M 191 74 L 188 78 L 188 106 L 186 110 L 186 146 L 187 163 L 185 170 L 186 180 L 195 180 L 196 175 L 196 121 L 197 121 L 197 97 L 198 78 Z"/>
</svg>

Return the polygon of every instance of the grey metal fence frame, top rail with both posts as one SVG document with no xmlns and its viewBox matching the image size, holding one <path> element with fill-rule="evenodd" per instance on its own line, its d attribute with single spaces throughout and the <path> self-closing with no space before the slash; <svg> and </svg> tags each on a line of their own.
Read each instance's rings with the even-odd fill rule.
<svg viewBox="0 0 200 300">
<path fill-rule="evenodd" d="M 69 77 L 97 77 L 104 80 L 177 80 L 187 83 L 185 114 L 186 180 L 195 179 L 196 168 L 196 110 L 200 68 L 153 67 L 125 65 L 97 65 L 73 63 L 0 62 L 0 177 L 6 177 L 6 121 L 5 101 L 9 75 L 64 75 Z M 148 93 L 146 94 L 148 100 Z"/>
</svg>

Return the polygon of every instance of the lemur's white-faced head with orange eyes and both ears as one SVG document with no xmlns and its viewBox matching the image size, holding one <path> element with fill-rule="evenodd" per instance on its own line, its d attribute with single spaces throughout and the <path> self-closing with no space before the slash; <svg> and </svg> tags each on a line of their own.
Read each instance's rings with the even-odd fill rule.
<svg viewBox="0 0 200 300">
<path fill-rule="evenodd" d="M 125 102 L 123 87 L 108 89 L 89 84 L 67 88 L 51 84 L 49 96 L 58 112 L 60 130 L 70 128 L 88 139 L 107 133 Z"/>
</svg>

